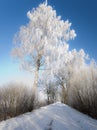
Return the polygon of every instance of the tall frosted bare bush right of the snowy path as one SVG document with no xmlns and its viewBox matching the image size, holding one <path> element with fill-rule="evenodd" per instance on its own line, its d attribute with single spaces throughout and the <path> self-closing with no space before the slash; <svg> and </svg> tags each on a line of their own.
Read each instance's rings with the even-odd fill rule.
<svg viewBox="0 0 97 130">
<path fill-rule="evenodd" d="M 68 104 L 97 119 L 97 69 L 74 73 L 68 88 Z"/>
</svg>

